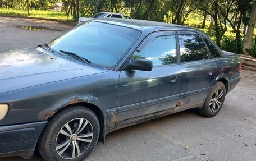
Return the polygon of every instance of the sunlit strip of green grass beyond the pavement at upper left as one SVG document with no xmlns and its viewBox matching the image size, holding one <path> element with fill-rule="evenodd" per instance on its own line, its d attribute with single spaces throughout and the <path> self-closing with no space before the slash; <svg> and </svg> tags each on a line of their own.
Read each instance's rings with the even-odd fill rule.
<svg viewBox="0 0 256 161">
<path fill-rule="evenodd" d="M 40 17 L 45 19 L 58 19 L 58 20 L 72 20 L 72 16 L 66 17 L 65 12 L 52 12 L 45 10 L 30 10 L 30 15 L 27 14 L 26 10 L 15 10 L 13 8 L 0 8 L 0 15 L 7 16 L 25 16 L 25 17 Z"/>
</svg>

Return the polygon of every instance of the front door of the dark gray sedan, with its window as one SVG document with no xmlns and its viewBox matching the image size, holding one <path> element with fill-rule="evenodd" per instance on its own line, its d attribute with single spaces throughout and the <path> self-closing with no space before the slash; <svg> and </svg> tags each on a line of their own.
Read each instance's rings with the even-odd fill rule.
<svg viewBox="0 0 256 161">
<path fill-rule="evenodd" d="M 154 33 L 132 54 L 153 63 L 152 71 L 122 70 L 118 85 L 117 126 L 174 111 L 180 90 L 174 31 Z"/>
</svg>

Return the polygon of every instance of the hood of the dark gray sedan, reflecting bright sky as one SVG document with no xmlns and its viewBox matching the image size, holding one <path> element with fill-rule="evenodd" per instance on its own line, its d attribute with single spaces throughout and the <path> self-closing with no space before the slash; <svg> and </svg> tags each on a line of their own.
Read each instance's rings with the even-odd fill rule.
<svg viewBox="0 0 256 161">
<path fill-rule="evenodd" d="M 0 60 L 0 93 L 108 71 L 42 48 L 2 52 Z"/>
</svg>

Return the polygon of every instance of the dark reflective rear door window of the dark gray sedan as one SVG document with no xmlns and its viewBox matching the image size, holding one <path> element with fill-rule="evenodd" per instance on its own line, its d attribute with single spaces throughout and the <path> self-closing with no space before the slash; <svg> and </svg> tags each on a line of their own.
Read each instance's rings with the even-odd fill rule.
<svg viewBox="0 0 256 161">
<path fill-rule="evenodd" d="M 179 35 L 180 61 L 208 59 L 207 49 L 199 35 Z"/>
</svg>

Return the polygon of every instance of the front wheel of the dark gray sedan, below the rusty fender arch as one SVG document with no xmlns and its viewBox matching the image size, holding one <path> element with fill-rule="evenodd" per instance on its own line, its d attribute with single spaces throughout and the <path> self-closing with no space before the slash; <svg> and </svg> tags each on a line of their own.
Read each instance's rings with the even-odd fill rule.
<svg viewBox="0 0 256 161">
<path fill-rule="evenodd" d="M 50 118 L 38 142 L 45 160 L 84 160 L 99 139 L 99 121 L 88 108 L 76 106 Z"/>
</svg>

